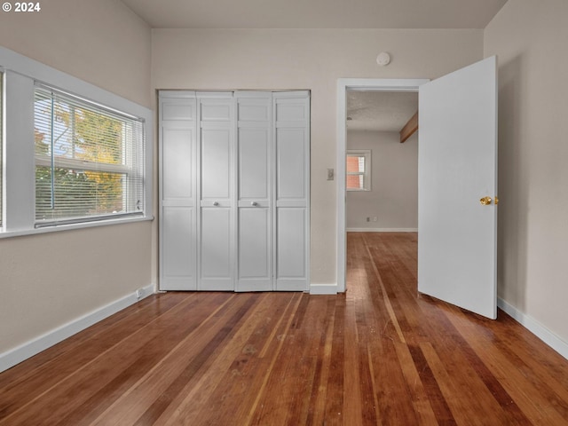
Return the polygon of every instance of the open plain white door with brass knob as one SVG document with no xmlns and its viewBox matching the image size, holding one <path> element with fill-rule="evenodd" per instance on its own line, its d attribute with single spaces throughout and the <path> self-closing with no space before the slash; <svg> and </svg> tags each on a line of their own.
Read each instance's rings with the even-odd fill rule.
<svg viewBox="0 0 568 426">
<path fill-rule="evenodd" d="M 492 57 L 419 91 L 418 291 L 491 319 L 497 318 L 496 75 Z"/>
</svg>

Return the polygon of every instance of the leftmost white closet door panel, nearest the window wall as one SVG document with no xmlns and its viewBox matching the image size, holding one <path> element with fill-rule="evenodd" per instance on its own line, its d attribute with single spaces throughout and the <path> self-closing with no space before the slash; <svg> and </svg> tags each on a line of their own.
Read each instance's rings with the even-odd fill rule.
<svg viewBox="0 0 568 426">
<path fill-rule="evenodd" d="M 197 288 L 196 99 L 161 91 L 159 133 L 160 289 Z"/>
</svg>

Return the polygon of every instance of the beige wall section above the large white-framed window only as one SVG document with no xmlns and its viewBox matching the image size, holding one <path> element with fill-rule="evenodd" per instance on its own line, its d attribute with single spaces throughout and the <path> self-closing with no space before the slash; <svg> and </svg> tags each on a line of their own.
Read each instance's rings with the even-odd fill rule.
<svg viewBox="0 0 568 426">
<path fill-rule="evenodd" d="M 40 4 L 41 12 L 0 12 L 0 45 L 152 106 L 151 33 L 143 20 L 117 0 Z"/>
</svg>

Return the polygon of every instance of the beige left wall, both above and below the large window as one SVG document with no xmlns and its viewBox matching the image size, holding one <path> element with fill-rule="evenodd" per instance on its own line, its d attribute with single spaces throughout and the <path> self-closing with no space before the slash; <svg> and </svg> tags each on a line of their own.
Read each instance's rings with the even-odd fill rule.
<svg viewBox="0 0 568 426">
<path fill-rule="evenodd" d="M 41 12 L 0 12 L 0 45 L 152 105 L 144 22 L 115 0 L 41 5 Z M 152 226 L 0 239 L 0 353 L 151 284 Z"/>
</svg>

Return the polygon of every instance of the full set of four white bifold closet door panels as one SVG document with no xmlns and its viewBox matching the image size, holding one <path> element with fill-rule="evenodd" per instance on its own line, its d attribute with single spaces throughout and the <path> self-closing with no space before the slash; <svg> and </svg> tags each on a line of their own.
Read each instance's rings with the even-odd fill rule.
<svg viewBox="0 0 568 426">
<path fill-rule="evenodd" d="M 309 93 L 160 92 L 160 288 L 309 286 Z"/>
</svg>

